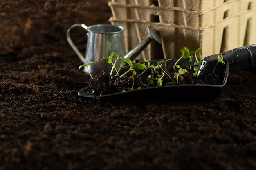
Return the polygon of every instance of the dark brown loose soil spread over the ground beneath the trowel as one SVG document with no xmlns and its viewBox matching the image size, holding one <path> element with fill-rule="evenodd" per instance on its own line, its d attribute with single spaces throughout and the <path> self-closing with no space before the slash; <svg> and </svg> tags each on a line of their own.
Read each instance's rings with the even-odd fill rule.
<svg viewBox="0 0 256 170">
<path fill-rule="evenodd" d="M 65 33 L 111 16 L 103 1 L 1 2 L 0 170 L 255 170 L 255 69 L 210 101 L 77 95 L 90 76 Z M 85 30 L 71 35 L 85 54 Z"/>
</svg>

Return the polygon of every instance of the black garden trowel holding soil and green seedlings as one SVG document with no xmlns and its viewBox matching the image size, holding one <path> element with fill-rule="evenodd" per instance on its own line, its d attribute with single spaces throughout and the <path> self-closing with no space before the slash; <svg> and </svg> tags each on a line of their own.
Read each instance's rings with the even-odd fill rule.
<svg viewBox="0 0 256 170">
<path fill-rule="evenodd" d="M 216 69 L 219 74 L 224 75 L 224 79 L 221 85 L 211 85 L 211 84 L 186 84 L 186 85 L 165 85 L 165 86 L 157 86 L 157 87 L 148 87 L 142 89 L 136 89 L 126 92 L 118 92 L 112 94 L 104 94 L 104 95 L 90 95 L 90 92 L 86 91 L 86 89 L 82 89 L 78 92 L 78 95 L 85 98 L 124 98 L 124 97 L 132 97 L 136 96 L 181 96 L 185 98 L 188 94 L 195 91 L 200 91 L 200 93 L 204 94 L 200 96 L 200 99 L 212 100 L 218 98 L 220 94 L 223 92 L 224 87 L 227 83 L 227 78 L 229 72 L 253 68 L 256 66 L 256 44 L 252 44 L 249 46 L 243 46 L 239 48 L 235 48 L 233 50 L 229 50 L 227 52 L 223 52 L 220 54 L 214 54 L 208 57 L 205 57 L 202 61 L 202 65 L 199 68 L 198 76 L 201 78 L 206 76 L 208 73 L 213 72 L 213 69 L 218 62 L 218 55 L 223 56 L 223 61 L 225 65 L 222 65 L 222 68 L 218 67 Z M 153 60 L 150 61 L 152 65 L 157 65 L 157 61 L 162 60 Z M 172 59 L 168 61 L 168 65 L 173 65 L 177 59 Z M 190 63 L 188 59 L 181 59 L 178 62 L 179 65 L 186 67 Z M 221 73 L 222 72 L 222 73 Z"/>
</svg>

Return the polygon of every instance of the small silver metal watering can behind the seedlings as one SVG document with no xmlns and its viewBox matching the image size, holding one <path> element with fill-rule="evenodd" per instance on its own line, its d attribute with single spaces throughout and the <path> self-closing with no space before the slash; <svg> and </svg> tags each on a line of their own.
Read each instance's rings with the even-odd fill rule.
<svg viewBox="0 0 256 170">
<path fill-rule="evenodd" d="M 87 47 L 85 57 L 79 52 L 70 38 L 70 30 L 76 26 L 84 28 L 87 32 Z M 124 27 L 110 24 L 99 24 L 86 26 L 85 24 L 74 24 L 67 30 L 67 41 L 78 57 L 83 63 L 90 63 L 92 61 L 96 64 L 89 65 L 89 71 L 93 75 L 101 74 L 102 70 L 110 73 L 112 65 L 106 61 L 102 61 L 103 57 L 108 57 L 112 52 L 116 52 L 119 56 L 133 61 L 144 48 L 154 39 L 159 44 L 162 43 L 159 32 L 153 27 L 148 26 L 149 36 L 141 41 L 135 48 L 130 50 L 127 54 L 124 46 Z M 122 61 L 117 63 L 117 68 Z M 84 68 L 84 72 L 88 73 L 87 68 Z"/>
</svg>

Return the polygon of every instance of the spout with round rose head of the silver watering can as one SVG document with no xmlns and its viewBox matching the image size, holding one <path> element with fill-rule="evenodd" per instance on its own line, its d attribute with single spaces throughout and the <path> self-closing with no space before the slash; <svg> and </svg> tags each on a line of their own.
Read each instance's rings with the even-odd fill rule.
<svg viewBox="0 0 256 170">
<path fill-rule="evenodd" d="M 148 33 L 149 36 L 146 37 L 143 41 L 141 41 L 135 48 L 130 50 L 125 56 L 125 59 L 130 59 L 133 61 L 141 52 L 148 46 L 148 44 L 152 41 L 155 40 L 159 44 L 162 44 L 162 40 L 160 37 L 160 34 L 158 31 L 156 31 L 152 26 L 148 26 Z"/>
</svg>

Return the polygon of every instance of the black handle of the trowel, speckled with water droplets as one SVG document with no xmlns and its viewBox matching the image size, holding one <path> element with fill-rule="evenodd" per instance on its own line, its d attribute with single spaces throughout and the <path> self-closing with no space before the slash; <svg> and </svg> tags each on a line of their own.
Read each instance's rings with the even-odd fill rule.
<svg viewBox="0 0 256 170">
<path fill-rule="evenodd" d="M 225 62 L 229 62 L 230 72 L 256 67 L 256 44 L 235 48 L 220 54 L 223 55 Z"/>
</svg>

